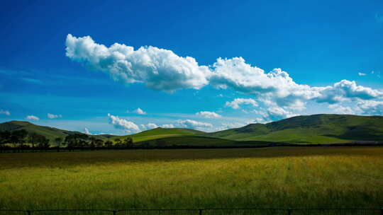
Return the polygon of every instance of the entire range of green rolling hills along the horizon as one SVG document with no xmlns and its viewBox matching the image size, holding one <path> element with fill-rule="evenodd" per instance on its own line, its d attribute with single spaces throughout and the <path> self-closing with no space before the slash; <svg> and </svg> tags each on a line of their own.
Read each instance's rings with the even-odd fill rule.
<svg viewBox="0 0 383 215">
<path fill-rule="evenodd" d="M 36 132 L 48 139 L 65 137 L 69 134 L 79 134 L 54 127 L 45 127 L 23 121 L 11 121 L 0 124 L 0 130 L 14 131 L 26 129 Z M 99 139 L 115 140 L 123 136 L 95 135 Z M 214 142 L 216 144 L 233 144 L 238 141 L 260 142 L 286 142 L 286 143 L 341 143 L 350 141 L 382 141 L 383 117 L 358 115 L 302 115 L 267 124 L 248 124 L 244 127 L 226 129 L 219 132 L 201 132 L 195 129 L 184 128 L 155 128 L 131 136 L 135 143 L 143 143 L 155 139 L 162 139 L 158 143 L 167 141 L 167 144 L 187 141 L 189 144 L 204 145 Z M 196 138 L 192 137 L 196 136 Z M 198 137 L 198 138 L 197 138 Z M 198 143 L 196 142 L 198 141 Z M 153 141 L 151 142 L 151 144 Z"/>
</svg>

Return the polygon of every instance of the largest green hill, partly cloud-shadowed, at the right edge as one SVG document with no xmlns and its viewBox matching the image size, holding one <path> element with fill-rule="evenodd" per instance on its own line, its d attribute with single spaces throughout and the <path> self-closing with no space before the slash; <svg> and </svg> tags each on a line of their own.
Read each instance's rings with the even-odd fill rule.
<svg viewBox="0 0 383 215">
<path fill-rule="evenodd" d="M 334 143 L 383 140 L 383 117 L 356 115 L 309 115 L 267 124 L 248 124 L 237 129 L 207 134 L 223 139 Z"/>
</svg>

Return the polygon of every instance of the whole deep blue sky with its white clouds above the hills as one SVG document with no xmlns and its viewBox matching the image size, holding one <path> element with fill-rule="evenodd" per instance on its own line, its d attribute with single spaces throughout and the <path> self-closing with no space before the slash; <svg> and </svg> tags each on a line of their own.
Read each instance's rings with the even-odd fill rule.
<svg viewBox="0 0 383 215">
<path fill-rule="evenodd" d="M 382 1 L 1 1 L 0 10 L 0 122 L 127 134 L 383 115 Z"/>
</svg>

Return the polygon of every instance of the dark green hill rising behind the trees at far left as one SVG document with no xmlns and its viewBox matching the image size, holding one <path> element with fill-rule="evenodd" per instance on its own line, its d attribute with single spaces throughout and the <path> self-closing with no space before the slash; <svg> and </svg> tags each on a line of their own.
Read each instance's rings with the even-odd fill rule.
<svg viewBox="0 0 383 215">
<path fill-rule="evenodd" d="M 36 124 L 32 124 L 30 122 L 24 122 L 24 121 L 11 121 L 11 122 L 4 122 L 0 124 L 0 131 L 9 131 L 13 132 L 16 130 L 25 129 L 28 133 L 37 133 L 40 135 L 45 136 L 46 138 L 50 139 L 51 143 L 54 143 L 54 139 L 57 137 L 62 137 L 63 139 L 65 136 L 70 134 L 80 134 L 80 132 L 71 132 L 66 131 L 62 129 L 57 129 L 54 127 L 47 127 L 47 126 L 40 126 Z M 109 139 L 113 135 L 105 134 L 105 135 L 92 135 L 98 139 Z"/>
</svg>

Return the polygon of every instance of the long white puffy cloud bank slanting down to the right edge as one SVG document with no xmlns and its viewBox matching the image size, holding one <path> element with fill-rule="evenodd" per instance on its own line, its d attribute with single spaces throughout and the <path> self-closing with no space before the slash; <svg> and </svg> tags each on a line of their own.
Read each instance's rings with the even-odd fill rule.
<svg viewBox="0 0 383 215">
<path fill-rule="evenodd" d="M 277 68 L 266 72 L 248 64 L 243 57 L 218 58 L 211 66 L 204 66 L 193 57 L 180 57 L 171 50 L 151 46 L 135 50 L 118 43 L 107 47 L 97 44 L 90 36 L 67 35 L 65 45 L 67 57 L 89 69 L 104 71 L 116 81 L 143 83 L 148 88 L 167 92 L 199 89 L 208 84 L 215 88 L 231 88 L 253 98 L 238 98 L 226 103 L 227 107 L 265 106 L 265 113 L 270 116 L 294 115 L 296 111 L 304 110 L 307 103 L 339 103 L 347 108 L 344 103 L 362 104 L 360 101 L 366 101 L 359 105 L 365 107 L 360 109 L 363 112 L 369 110 L 366 108 L 368 101 L 383 99 L 382 90 L 360 86 L 355 81 L 341 80 L 329 86 L 296 83 L 287 71 Z M 370 108 L 378 108 L 373 112 L 379 112 L 379 105 L 368 104 Z"/>
</svg>

